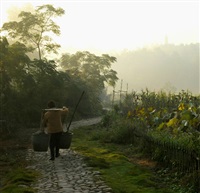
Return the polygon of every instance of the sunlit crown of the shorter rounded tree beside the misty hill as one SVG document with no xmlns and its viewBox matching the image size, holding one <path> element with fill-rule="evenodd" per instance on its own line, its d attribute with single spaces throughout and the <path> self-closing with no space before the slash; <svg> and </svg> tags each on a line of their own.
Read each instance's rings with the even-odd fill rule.
<svg viewBox="0 0 200 193">
<path fill-rule="evenodd" d="M 108 54 L 96 56 L 90 52 L 77 52 L 76 54 L 63 54 L 61 67 L 70 72 L 72 76 L 79 76 L 97 89 L 104 88 L 104 83 L 115 86 L 118 80 L 117 72 L 111 69 L 116 58 Z"/>
</svg>

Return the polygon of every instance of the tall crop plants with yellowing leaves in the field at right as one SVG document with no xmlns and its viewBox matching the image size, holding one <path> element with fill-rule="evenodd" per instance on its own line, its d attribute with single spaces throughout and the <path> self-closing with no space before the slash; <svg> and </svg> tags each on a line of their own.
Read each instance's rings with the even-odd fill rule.
<svg viewBox="0 0 200 193">
<path fill-rule="evenodd" d="M 163 131 L 165 131 L 165 136 L 168 133 L 169 138 L 174 141 L 179 138 L 181 140 L 185 135 L 191 139 L 199 132 L 199 101 L 199 97 L 194 97 L 184 91 L 179 95 L 164 95 L 147 90 L 134 95 L 134 102 L 127 116 L 133 122 L 135 119 L 142 121 L 149 133 L 159 132 L 161 139 Z"/>
</svg>

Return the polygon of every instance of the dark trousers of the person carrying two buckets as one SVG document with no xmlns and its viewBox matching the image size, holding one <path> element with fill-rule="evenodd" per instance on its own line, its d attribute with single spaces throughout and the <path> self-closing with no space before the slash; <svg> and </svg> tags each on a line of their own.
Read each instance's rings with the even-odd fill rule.
<svg viewBox="0 0 200 193">
<path fill-rule="evenodd" d="M 50 147 L 50 152 L 51 152 L 51 159 L 55 158 L 55 150 L 56 150 L 56 157 L 59 156 L 59 146 L 60 146 L 61 135 L 62 135 L 62 132 L 50 134 L 49 147 Z"/>
</svg>

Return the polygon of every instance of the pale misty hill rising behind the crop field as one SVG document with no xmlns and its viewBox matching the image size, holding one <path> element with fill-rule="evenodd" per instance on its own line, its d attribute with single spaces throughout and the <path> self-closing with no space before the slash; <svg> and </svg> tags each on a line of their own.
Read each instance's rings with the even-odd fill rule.
<svg viewBox="0 0 200 193">
<path fill-rule="evenodd" d="M 113 69 L 123 80 L 123 89 L 141 91 L 189 90 L 199 93 L 199 43 L 160 45 L 118 55 Z M 120 87 L 120 81 L 117 87 Z"/>
</svg>

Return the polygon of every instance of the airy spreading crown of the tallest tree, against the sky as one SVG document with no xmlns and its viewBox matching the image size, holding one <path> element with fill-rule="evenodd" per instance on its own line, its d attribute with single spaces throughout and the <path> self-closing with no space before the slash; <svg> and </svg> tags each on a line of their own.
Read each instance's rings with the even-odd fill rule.
<svg viewBox="0 0 200 193">
<path fill-rule="evenodd" d="M 57 53 L 59 44 L 53 42 L 50 33 L 60 35 L 60 27 L 52 18 L 62 16 L 65 11 L 62 8 L 54 8 L 52 5 L 42 5 L 35 9 L 34 13 L 22 11 L 18 17 L 19 22 L 4 23 L 2 30 L 19 42 L 29 45 L 30 51 L 37 50 L 41 60 L 46 52 Z"/>
</svg>

